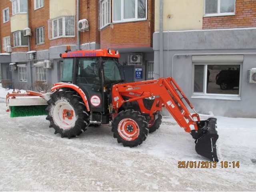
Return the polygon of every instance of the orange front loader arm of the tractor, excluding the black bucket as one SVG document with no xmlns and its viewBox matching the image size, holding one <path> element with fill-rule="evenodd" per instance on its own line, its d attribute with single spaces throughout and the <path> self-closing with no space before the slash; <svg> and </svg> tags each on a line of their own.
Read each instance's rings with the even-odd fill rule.
<svg viewBox="0 0 256 192">
<path fill-rule="evenodd" d="M 122 94 L 125 92 L 140 92 L 141 96 L 137 96 L 129 100 L 123 100 Z M 192 106 L 192 104 L 188 101 L 185 94 L 171 77 L 127 84 L 116 84 L 112 88 L 112 95 L 113 108 L 116 111 L 118 111 L 118 108 L 120 108 L 126 102 L 132 102 L 148 97 L 155 97 L 154 104 L 150 109 L 150 116 L 153 114 L 153 112 L 161 110 L 163 106 L 162 104 L 164 104 L 179 126 L 184 128 L 186 132 L 198 130 L 194 117 L 197 118 L 197 121 L 200 121 L 199 115 L 197 113 L 190 114 L 188 108 L 182 101 L 182 98 L 184 98 L 191 109 L 193 109 L 194 106 Z"/>
</svg>

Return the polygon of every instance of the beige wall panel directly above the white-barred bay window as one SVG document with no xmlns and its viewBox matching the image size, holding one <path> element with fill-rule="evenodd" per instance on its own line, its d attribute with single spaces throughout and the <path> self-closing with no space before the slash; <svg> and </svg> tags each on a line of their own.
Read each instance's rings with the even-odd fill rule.
<svg viewBox="0 0 256 192">
<path fill-rule="evenodd" d="M 76 0 L 50 0 L 50 19 L 76 15 Z"/>
</svg>

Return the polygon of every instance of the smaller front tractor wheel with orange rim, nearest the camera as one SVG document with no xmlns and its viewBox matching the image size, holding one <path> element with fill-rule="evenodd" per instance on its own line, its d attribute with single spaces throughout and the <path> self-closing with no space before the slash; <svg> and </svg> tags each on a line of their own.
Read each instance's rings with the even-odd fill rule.
<svg viewBox="0 0 256 192">
<path fill-rule="evenodd" d="M 138 111 L 121 111 L 112 121 L 114 138 L 123 146 L 138 146 L 148 136 L 148 123 Z"/>
</svg>

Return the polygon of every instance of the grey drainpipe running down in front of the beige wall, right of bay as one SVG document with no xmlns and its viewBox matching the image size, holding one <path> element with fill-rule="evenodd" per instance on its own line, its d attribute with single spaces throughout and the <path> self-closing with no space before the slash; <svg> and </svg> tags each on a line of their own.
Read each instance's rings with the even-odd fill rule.
<svg viewBox="0 0 256 192">
<path fill-rule="evenodd" d="M 159 74 L 164 76 L 164 48 L 163 48 L 163 0 L 160 0 L 159 9 Z"/>
</svg>

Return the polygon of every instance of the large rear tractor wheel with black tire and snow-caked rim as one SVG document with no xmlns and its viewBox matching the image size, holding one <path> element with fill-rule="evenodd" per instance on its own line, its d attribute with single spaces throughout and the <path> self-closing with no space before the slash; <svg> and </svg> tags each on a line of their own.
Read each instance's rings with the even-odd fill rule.
<svg viewBox="0 0 256 192">
<path fill-rule="evenodd" d="M 66 118 L 69 119 L 69 117 L 72 118 L 72 124 L 70 127 L 65 128 L 64 124 L 62 122 L 58 122 L 58 119 L 60 118 L 61 110 L 59 110 L 58 115 L 56 115 L 56 112 L 58 112 L 58 106 L 62 107 L 62 103 L 64 106 L 70 106 L 72 108 L 73 113 L 70 114 L 70 111 L 66 112 L 66 117 L 64 118 L 63 122 Z M 46 117 L 46 120 L 50 121 L 50 128 L 54 128 L 55 132 L 54 134 L 61 134 L 61 137 L 76 137 L 82 132 L 86 130 L 87 125 L 90 122 L 89 114 L 86 111 L 86 106 L 82 101 L 82 98 L 74 91 L 58 91 L 51 95 L 51 99 L 48 100 L 48 107 L 46 108 L 46 112 L 48 113 L 48 116 Z M 65 109 L 64 109 L 65 110 Z M 63 115 L 64 115 L 63 110 Z M 63 126 L 62 126 L 63 125 Z"/>
</svg>

